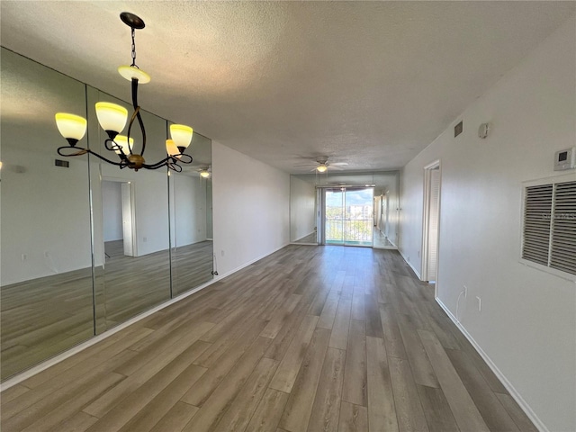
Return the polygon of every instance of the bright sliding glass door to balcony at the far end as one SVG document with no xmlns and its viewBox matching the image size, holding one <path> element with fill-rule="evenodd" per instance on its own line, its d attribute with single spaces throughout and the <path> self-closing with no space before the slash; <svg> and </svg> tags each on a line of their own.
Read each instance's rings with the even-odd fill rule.
<svg viewBox="0 0 576 432">
<path fill-rule="evenodd" d="M 321 244 L 373 246 L 374 187 L 325 188 Z"/>
</svg>

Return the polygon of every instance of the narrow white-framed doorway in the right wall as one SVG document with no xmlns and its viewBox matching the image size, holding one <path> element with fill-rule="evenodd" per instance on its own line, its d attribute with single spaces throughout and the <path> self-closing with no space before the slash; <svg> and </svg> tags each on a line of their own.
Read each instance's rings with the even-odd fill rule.
<svg viewBox="0 0 576 432">
<path fill-rule="evenodd" d="M 437 282 L 440 230 L 440 161 L 424 167 L 424 218 L 422 227 L 422 280 Z"/>
</svg>

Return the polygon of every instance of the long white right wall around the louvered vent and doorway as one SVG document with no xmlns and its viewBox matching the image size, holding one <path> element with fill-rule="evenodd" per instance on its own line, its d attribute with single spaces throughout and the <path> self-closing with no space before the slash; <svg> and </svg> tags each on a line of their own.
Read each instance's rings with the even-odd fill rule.
<svg viewBox="0 0 576 432">
<path fill-rule="evenodd" d="M 419 270 L 423 167 L 441 159 L 438 300 L 455 315 L 468 287 L 465 331 L 538 426 L 558 432 L 576 430 L 576 285 L 519 263 L 520 216 L 522 182 L 557 175 L 554 152 L 574 146 L 575 78 L 572 17 L 455 120 L 462 135 L 452 124 L 401 175 L 401 253 Z"/>
</svg>

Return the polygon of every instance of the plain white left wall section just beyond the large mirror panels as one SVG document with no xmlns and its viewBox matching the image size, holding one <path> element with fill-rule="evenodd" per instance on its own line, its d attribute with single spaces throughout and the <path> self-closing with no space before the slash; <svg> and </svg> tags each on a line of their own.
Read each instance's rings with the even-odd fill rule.
<svg viewBox="0 0 576 432">
<path fill-rule="evenodd" d="M 212 141 L 214 254 L 220 277 L 290 240 L 290 176 Z"/>
</svg>

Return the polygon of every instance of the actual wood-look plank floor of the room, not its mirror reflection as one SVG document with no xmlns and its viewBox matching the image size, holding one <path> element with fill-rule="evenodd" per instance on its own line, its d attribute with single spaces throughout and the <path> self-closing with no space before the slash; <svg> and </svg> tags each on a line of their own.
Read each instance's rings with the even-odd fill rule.
<svg viewBox="0 0 576 432">
<path fill-rule="evenodd" d="M 535 431 L 397 251 L 291 245 L 2 393 L 11 431 Z"/>
</svg>

